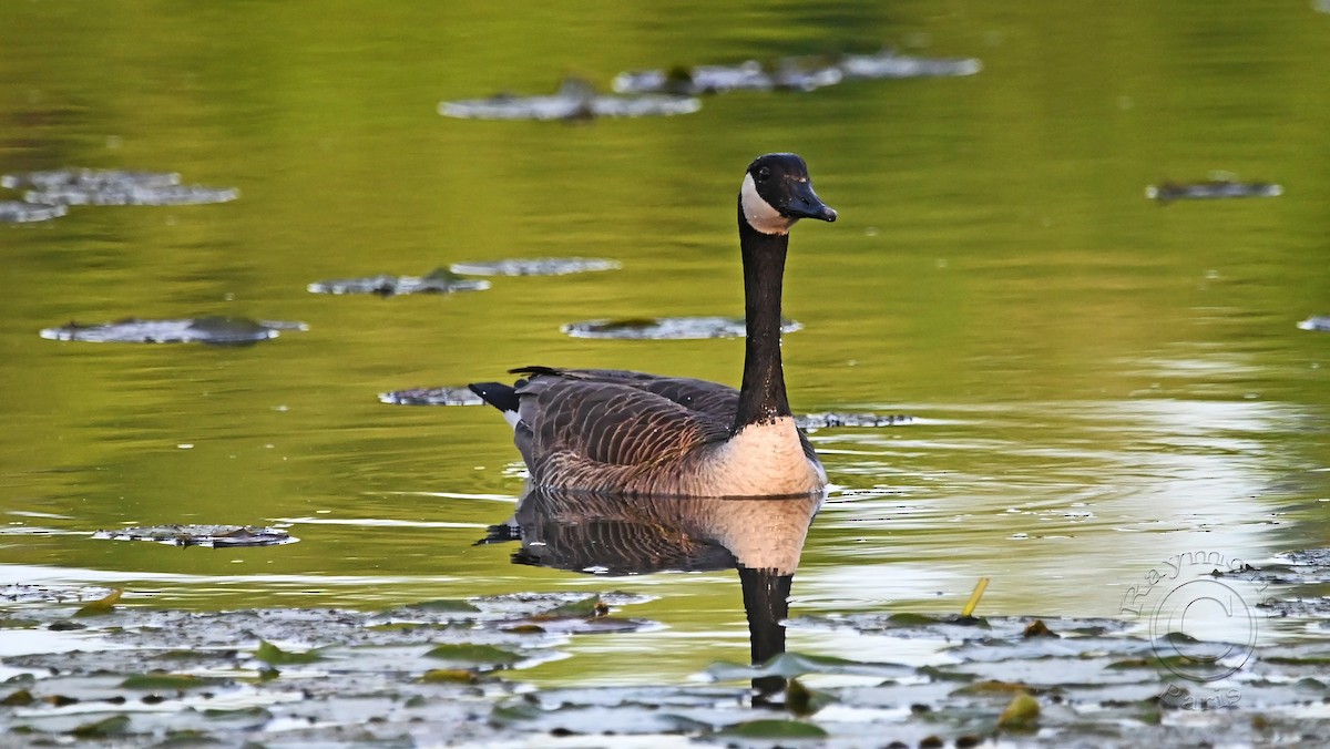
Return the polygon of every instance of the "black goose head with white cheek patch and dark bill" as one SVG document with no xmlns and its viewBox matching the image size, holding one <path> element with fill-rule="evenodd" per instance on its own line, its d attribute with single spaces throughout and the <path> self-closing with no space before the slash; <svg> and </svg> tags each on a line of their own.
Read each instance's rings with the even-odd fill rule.
<svg viewBox="0 0 1330 749">
<path fill-rule="evenodd" d="M 739 190 L 749 226 L 763 234 L 786 234 L 801 218 L 835 221 L 835 210 L 813 192 L 809 166 L 793 153 L 769 153 L 749 164 Z"/>
</svg>

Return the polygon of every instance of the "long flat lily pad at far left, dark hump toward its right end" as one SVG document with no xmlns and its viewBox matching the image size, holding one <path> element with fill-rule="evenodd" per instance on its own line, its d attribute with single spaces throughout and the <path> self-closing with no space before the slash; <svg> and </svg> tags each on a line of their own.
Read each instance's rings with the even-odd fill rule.
<svg viewBox="0 0 1330 749">
<path fill-rule="evenodd" d="M 138 319 L 48 327 L 41 337 L 51 341 L 86 343 L 210 343 L 215 346 L 249 345 L 277 338 L 283 330 L 309 330 L 303 322 L 251 321 L 235 317 L 190 319 Z"/>
</svg>

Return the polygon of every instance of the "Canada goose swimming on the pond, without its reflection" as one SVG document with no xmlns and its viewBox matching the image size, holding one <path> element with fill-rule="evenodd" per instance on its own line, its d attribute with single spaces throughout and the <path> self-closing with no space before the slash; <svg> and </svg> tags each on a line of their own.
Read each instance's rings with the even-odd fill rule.
<svg viewBox="0 0 1330 749">
<path fill-rule="evenodd" d="M 758 157 L 738 198 L 743 259 L 739 390 L 622 370 L 521 367 L 516 386 L 471 384 L 503 411 L 536 486 L 670 496 L 818 492 L 826 471 L 794 424 L 781 370 L 781 282 L 790 227 L 835 221 L 793 153 Z"/>
</svg>

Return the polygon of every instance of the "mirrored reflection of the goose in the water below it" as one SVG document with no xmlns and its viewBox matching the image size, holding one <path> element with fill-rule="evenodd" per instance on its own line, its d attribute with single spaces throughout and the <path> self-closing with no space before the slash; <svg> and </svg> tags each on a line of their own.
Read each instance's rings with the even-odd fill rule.
<svg viewBox="0 0 1330 749">
<path fill-rule="evenodd" d="M 598 575 L 739 572 L 753 664 L 785 652 L 790 584 L 825 492 L 783 498 L 629 498 L 528 488 L 479 543 L 517 540 L 515 564 Z M 754 702 L 785 689 L 753 680 Z"/>
</svg>

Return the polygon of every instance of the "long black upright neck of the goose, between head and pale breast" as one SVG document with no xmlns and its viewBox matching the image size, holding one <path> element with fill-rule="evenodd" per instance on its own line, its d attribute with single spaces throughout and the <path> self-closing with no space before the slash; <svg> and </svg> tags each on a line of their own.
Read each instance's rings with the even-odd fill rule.
<svg viewBox="0 0 1330 749">
<path fill-rule="evenodd" d="M 781 370 L 781 283 L 789 234 L 763 234 L 749 226 L 739 205 L 739 251 L 743 255 L 743 384 L 734 431 L 790 415 Z"/>
</svg>

